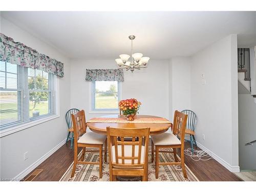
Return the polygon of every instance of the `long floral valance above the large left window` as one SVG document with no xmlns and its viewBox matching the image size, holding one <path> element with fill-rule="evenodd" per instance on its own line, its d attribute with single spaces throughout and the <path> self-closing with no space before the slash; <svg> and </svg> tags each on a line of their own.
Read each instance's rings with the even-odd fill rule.
<svg viewBox="0 0 256 192">
<path fill-rule="evenodd" d="M 0 61 L 64 76 L 63 63 L 0 33 Z"/>
</svg>

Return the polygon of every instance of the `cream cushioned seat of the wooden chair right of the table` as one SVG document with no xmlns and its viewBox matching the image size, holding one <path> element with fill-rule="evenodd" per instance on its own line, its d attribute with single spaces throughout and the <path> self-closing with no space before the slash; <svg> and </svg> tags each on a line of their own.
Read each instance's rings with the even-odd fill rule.
<svg viewBox="0 0 256 192">
<path fill-rule="evenodd" d="M 179 145 L 180 140 L 172 133 L 162 133 L 160 135 L 152 135 L 151 139 L 155 145 Z"/>
</svg>

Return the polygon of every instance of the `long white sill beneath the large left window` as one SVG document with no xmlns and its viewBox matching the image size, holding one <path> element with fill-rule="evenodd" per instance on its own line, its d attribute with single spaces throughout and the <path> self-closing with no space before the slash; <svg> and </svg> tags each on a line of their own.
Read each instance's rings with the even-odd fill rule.
<svg viewBox="0 0 256 192">
<path fill-rule="evenodd" d="M 37 124 L 41 124 L 41 123 L 44 123 L 46 121 L 56 119 L 58 117 L 59 117 L 59 115 L 53 115 L 53 116 L 50 116 L 50 117 L 34 120 L 34 121 L 31 121 L 31 122 L 28 122 L 28 123 L 25 123 L 25 124 L 13 126 L 13 127 L 1 130 L 0 131 L 0 138 L 5 137 L 5 136 L 10 135 L 10 134 L 13 134 L 13 133 L 16 133 L 16 132 L 19 132 L 19 131 L 22 131 L 22 130 L 25 130 L 25 129 L 28 129 L 29 127 L 35 126 Z"/>
</svg>

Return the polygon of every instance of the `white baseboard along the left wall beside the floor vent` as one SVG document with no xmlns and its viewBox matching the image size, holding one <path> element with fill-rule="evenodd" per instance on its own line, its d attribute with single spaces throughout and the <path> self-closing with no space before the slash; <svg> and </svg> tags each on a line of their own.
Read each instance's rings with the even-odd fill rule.
<svg viewBox="0 0 256 192">
<path fill-rule="evenodd" d="M 61 141 L 59 144 L 57 144 L 55 147 L 53 147 L 51 151 L 49 151 L 47 154 L 42 156 L 40 159 L 38 159 L 32 165 L 30 165 L 25 170 L 23 170 L 21 173 L 19 173 L 13 180 L 14 181 L 22 180 L 25 176 L 27 176 L 30 172 L 32 172 L 33 169 L 35 169 L 38 165 L 40 165 L 42 162 L 44 162 L 48 157 L 50 157 L 54 152 L 56 152 L 65 143 L 66 143 L 66 139 Z"/>
</svg>

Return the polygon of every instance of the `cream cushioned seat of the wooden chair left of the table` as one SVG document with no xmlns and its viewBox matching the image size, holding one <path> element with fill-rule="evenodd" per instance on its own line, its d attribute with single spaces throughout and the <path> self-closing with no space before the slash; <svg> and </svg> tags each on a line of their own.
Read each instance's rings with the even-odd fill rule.
<svg viewBox="0 0 256 192">
<path fill-rule="evenodd" d="M 77 143 L 83 144 L 104 144 L 106 140 L 105 135 L 96 134 L 94 132 L 88 132 L 83 134 L 77 141 Z"/>
</svg>

